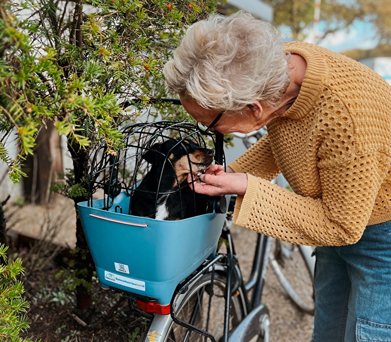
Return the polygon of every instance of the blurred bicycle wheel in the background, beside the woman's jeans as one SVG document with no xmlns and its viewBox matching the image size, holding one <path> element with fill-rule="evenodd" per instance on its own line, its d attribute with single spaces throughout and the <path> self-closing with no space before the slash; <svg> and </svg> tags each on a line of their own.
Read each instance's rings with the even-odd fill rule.
<svg viewBox="0 0 391 342">
<path fill-rule="evenodd" d="M 315 291 L 313 282 L 314 257 L 312 247 L 298 246 L 275 240 L 270 265 L 289 298 L 297 307 L 313 315 Z"/>
</svg>

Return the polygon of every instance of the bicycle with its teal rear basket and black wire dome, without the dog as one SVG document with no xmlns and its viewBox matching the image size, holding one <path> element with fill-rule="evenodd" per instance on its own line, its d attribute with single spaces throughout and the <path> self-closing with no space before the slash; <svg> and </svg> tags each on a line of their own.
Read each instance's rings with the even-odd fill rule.
<svg viewBox="0 0 391 342">
<path fill-rule="evenodd" d="M 88 201 L 78 207 L 101 286 L 121 292 L 138 310 L 153 315 L 145 342 L 267 342 L 270 319 L 261 294 L 272 240 L 258 236 L 252 274 L 244 283 L 226 224 L 229 196 L 214 198 L 208 214 L 178 221 L 127 212 L 137 175 L 144 172 L 143 151 L 158 139 L 172 138 L 173 131 L 208 143 L 191 123 L 136 124 L 123 129 L 125 153 L 110 156 L 103 144 L 92 158 Z M 212 141 L 217 163 L 224 164 L 223 136 L 216 134 Z M 166 247 L 163 252 L 157 236 Z"/>
</svg>

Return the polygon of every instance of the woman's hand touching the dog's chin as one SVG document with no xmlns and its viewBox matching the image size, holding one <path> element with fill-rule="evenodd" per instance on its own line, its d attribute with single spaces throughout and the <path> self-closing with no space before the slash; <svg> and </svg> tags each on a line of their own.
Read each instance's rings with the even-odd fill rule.
<svg viewBox="0 0 391 342">
<path fill-rule="evenodd" d="M 194 183 L 194 186 L 190 173 L 187 180 L 191 189 L 194 187 L 195 192 L 205 195 L 244 195 L 247 189 L 247 175 L 235 173 L 231 169 L 227 171 L 225 172 L 221 165 L 212 165 L 205 170 L 205 173 L 199 175 L 199 180 Z"/>
</svg>

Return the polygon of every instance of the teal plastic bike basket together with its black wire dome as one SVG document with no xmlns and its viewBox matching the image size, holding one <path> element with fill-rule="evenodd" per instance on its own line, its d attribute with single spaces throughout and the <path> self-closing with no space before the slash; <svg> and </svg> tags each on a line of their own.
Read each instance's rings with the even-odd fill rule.
<svg viewBox="0 0 391 342">
<path fill-rule="evenodd" d="M 193 123 L 139 123 L 122 133 L 124 144 L 116 155 L 107 153 L 103 143 L 91 157 L 88 201 L 78 204 L 84 233 L 103 288 L 166 305 L 177 284 L 216 253 L 225 219 L 216 211 L 225 209 L 209 204 L 206 211 L 195 210 L 193 217 L 164 221 L 132 214 L 131 200 L 151 168 L 145 155 L 156 144 L 175 139 L 176 145 L 185 146 L 183 141 L 190 139 L 201 148 L 215 144 L 216 149 L 216 143 L 213 137 L 202 136 Z M 156 196 L 167 194 L 159 187 L 154 191 Z M 156 210 L 157 200 L 145 202 L 143 206 Z"/>
</svg>

